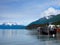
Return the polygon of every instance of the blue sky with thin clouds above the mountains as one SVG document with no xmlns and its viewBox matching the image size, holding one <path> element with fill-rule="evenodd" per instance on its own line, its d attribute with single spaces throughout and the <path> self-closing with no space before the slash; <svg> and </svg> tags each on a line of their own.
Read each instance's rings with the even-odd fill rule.
<svg viewBox="0 0 60 45">
<path fill-rule="evenodd" d="M 60 14 L 60 0 L 0 0 L 0 23 L 28 25 L 56 14 Z"/>
</svg>

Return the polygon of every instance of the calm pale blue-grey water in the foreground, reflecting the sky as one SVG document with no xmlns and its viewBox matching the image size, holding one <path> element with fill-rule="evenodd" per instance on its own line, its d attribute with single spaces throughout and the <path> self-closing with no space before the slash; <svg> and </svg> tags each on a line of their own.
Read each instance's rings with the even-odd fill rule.
<svg viewBox="0 0 60 45">
<path fill-rule="evenodd" d="M 32 30 L 0 29 L 0 45 L 60 45 L 60 40 L 39 35 Z"/>
</svg>

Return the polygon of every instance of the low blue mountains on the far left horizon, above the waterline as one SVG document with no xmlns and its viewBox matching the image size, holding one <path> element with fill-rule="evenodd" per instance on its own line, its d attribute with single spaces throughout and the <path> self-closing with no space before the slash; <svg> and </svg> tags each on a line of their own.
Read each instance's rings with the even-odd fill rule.
<svg viewBox="0 0 60 45">
<path fill-rule="evenodd" d="M 1 24 L 0 25 L 0 29 L 25 29 L 25 28 L 26 28 L 26 26 L 24 26 L 24 25 L 14 25 L 14 24 L 12 24 L 12 25 Z"/>
</svg>

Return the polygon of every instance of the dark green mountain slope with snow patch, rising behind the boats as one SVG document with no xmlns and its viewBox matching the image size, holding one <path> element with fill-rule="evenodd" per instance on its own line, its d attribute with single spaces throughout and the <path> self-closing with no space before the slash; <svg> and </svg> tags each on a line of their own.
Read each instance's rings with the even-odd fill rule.
<svg viewBox="0 0 60 45">
<path fill-rule="evenodd" d="M 49 23 L 55 24 L 55 25 L 60 24 L 60 14 L 50 15 L 50 16 L 40 18 L 40 19 L 30 23 L 27 26 L 27 28 L 28 29 L 33 29 L 33 28 L 37 28 L 39 26 L 45 26 L 46 24 L 49 24 Z"/>
</svg>

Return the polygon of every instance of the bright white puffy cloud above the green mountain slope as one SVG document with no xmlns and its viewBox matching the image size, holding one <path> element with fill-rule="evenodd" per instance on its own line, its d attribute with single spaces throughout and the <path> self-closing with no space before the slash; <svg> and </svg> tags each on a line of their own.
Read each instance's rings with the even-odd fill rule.
<svg viewBox="0 0 60 45">
<path fill-rule="evenodd" d="M 42 17 L 43 16 L 50 16 L 50 15 L 57 15 L 57 14 L 60 14 L 60 10 L 57 10 L 53 7 L 50 7 L 47 10 L 45 10 L 44 12 L 41 13 Z"/>
</svg>

